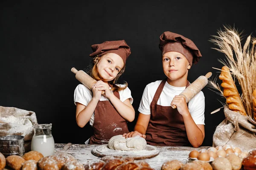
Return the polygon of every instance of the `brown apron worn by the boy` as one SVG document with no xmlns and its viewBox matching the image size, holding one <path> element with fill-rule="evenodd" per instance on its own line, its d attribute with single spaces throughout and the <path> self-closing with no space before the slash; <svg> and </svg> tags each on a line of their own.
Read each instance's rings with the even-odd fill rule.
<svg viewBox="0 0 256 170">
<path fill-rule="evenodd" d="M 166 79 L 162 80 L 150 104 L 150 121 L 146 131 L 146 141 L 158 146 L 188 146 L 189 139 L 182 115 L 172 106 L 157 105 Z M 186 88 L 189 86 L 187 81 Z"/>
</svg>

